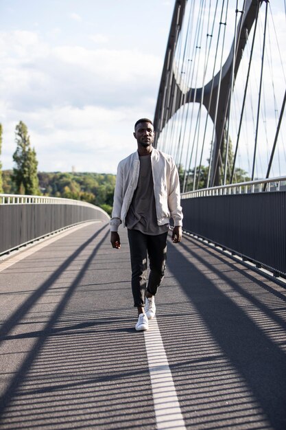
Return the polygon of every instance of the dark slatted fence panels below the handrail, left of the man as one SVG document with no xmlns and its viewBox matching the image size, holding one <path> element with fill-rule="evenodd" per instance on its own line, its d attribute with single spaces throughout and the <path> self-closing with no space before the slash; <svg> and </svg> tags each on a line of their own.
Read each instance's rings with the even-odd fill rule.
<svg viewBox="0 0 286 430">
<path fill-rule="evenodd" d="M 99 208 L 67 204 L 0 205 L 0 253 L 69 225 L 87 220 L 108 223 Z"/>
</svg>

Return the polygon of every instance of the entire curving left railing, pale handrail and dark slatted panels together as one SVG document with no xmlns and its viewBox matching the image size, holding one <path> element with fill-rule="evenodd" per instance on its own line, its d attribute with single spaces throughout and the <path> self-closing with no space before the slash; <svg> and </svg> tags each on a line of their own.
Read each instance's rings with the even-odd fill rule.
<svg viewBox="0 0 286 430">
<path fill-rule="evenodd" d="M 89 220 L 108 223 L 110 217 L 85 201 L 0 194 L 0 255 Z"/>
</svg>

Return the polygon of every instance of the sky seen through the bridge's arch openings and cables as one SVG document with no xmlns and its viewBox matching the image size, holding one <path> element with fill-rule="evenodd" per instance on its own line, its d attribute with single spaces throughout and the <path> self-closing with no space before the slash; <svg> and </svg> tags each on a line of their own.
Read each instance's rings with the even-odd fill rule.
<svg viewBox="0 0 286 430">
<path fill-rule="evenodd" d="M 219 73 L 221 65 L 232 53 L 235 20 L 243 16 L 241 11 L 246 9 L 244 3 L 245 0 L 187 2 L 174 66 L 177 83 L 182 91 L 190 87 L 200 88 L 213 74 Z M 249 5 L 252 2 L 246 3 Z M 269 3 L 262 1 L 259 5 L 259 19 L 247 33 L 247 43 L 234 83 L 228 132 L 233 152 L 239 135 L 235 168 L 246 172 L 246 177 L 252 177 L 254 169 L 254 178 L 264 179 L 286 88 L 286 3 L 285 0 L 275 0 Z M 221 25 L 223 23 L 225 25 Z M 208 37 L 210 34 L 211 38 Z M 242 32 L 242 36 L 245 37 L 245 32 Z M 206 55 L 208 52 L 209 56 Z M 185 168 L 198 168 L 200 157 L 204 166 L 209 163 L 211 142 L 215 139 L 214 124 L 207 115 L 206 106 L 202 106 L 201 113 L 199 103 L 183 105 L 169 120 L 158 139 L 158 148 L 173 155 L 177 165 L 182 164 Z M 285 114 L 275 147 L 270 177 L 281 177 L 286 174 Z"/>
</svg>

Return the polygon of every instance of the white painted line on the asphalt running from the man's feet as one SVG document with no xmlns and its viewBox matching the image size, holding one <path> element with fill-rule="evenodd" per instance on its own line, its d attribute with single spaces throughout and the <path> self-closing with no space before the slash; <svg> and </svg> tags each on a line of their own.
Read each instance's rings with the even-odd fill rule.
<svg viewBox="0 0 286 430">
<path fill-rule="evenodd" d="M 144 332 L 158 430 L 186 430 L 156 317 Z"/>
</svg>

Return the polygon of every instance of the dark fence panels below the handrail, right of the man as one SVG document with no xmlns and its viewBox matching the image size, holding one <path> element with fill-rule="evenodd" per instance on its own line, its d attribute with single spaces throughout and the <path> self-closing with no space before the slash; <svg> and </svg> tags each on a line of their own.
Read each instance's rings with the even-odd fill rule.
<svg viewBox="0 0 286 430">
<path fill-rule="evenodd" d="M 286 274 L 286 192 L 182 199 L 184 229 Z"/>
</svg>

